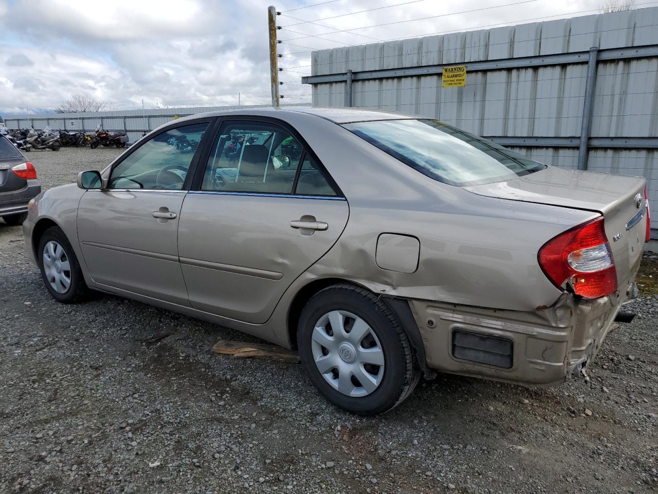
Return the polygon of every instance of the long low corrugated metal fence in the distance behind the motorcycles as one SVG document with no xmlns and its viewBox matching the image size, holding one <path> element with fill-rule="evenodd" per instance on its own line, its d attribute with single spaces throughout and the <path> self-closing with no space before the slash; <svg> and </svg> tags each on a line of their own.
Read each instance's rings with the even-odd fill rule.
<svg viewBox="0 0 658 494">
<path fill-rule="evenodd" d="M 93 113 L 51 113 L 39 115 L 14 115 L 5 118 L 7 128 L 30 128 L 38 130 L 49 125 L 53 130 L 82 130 L 93 132 L 97 125 L 108 132 L 128 132 L 130 142 L 136 142 L 143 132 L 165 124 L 176 117 L 186 117 L 197 113 L 240 108 L 267 107 L 270 105 L 242 105 L 222 107 L 187 107 L 145 110 L 98 111 Z M 299 106 L 291 104 L 286 106 Z"/>
</svg>

